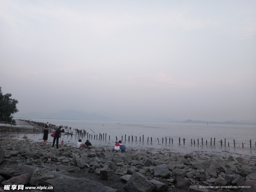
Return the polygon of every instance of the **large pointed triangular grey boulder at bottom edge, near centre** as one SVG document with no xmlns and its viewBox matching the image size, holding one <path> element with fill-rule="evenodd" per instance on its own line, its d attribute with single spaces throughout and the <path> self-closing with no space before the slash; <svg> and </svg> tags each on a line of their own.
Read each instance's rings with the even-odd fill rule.
<svg viewBox="0 0 256 192">
<path fill-rule="evenodd" d="M 151 184 L 142 174 L 133 173 L 124 188 L 129 192 L 150 192 L 154 185 Z"/>
</svg>

